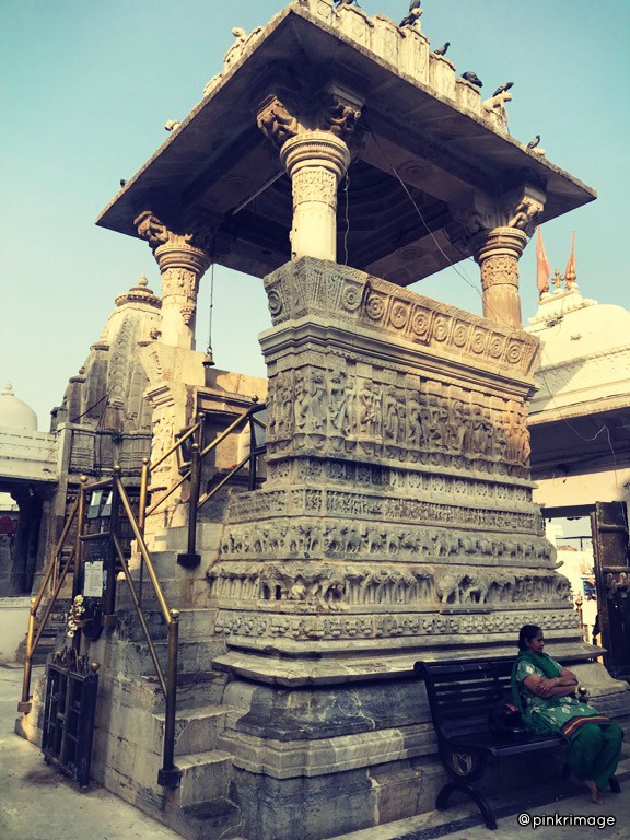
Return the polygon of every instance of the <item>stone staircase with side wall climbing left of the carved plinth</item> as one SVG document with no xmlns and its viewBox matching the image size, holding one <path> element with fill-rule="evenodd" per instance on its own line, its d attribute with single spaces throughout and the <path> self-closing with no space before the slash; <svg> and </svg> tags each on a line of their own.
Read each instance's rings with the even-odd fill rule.
<svg viewBox="0 0 630 840">
<path fill-rule="evenodd" d="M 180 608 L 179 617 L 175 763 L 182 779 L 176 789 L 156 784 L 165 703 L 128 587 L 121 581 L 118 628 L 103 651 L 102 690 L 110 696 L 98 703 L 95 778 L 190 840 L 235 837 L 240 824 L 240 809 L 231 798 L 232 756 L 218 748 L 226 715 L 235 710 L 222 704 L 226 676 L 213 670 L 211 663 L 224 645 L 213 639 L 215 609 L 205 606 L 205 569 L 217 556 L 221 532 L 219 523 L 198 526 L 205 562 L 194 570 L 176 562 L 186 545 L 186 528 L 165 529 L 152 542 L 151 559 L 170 607 L 194 605 Z M 166 628 L 147 582 L 142 606 L 165 669 Z"/>
</svg>

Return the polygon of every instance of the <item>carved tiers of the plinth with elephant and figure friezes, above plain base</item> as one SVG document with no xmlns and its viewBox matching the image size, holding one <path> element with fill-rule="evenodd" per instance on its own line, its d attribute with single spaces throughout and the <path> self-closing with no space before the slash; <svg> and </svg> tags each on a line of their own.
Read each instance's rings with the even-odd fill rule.
<svg viewBox="0 0 630 840">
<path fill-rule="evenodd" d="M 292 656 L 575 634 L 532 502 L 529 335 L 314 259 L 266 279 L 268 480 L 208 573 L 229 645 Z"/>
</svg>

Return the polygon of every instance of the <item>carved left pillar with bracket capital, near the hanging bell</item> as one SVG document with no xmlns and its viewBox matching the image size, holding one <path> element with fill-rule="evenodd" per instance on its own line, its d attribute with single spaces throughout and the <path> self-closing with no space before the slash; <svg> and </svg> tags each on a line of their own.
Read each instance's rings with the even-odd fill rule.
<svg viewBox="0 0 630 840">
<path fill-rule="evenodd" d="M 135 222 L 149 242 L 162 275 L 162 337 L 165 345 L 195 349 L 199 280 L 210 265 L 205 243 L 196 232 L 170 230 L 150 211 Z"/>
</svg>

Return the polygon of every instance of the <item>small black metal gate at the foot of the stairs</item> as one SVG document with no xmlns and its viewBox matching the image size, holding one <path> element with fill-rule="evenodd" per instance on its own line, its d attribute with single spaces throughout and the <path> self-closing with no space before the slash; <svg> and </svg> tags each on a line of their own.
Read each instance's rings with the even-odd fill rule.
<svg viewBox="0 0 630 840">
<path fill-rule="evenodd" d="M 55 654 L 47 668 L 42 751 L 48 763 L 86 788 L 98 689 L 97 666 L 73 648 Z"/>
</svg>

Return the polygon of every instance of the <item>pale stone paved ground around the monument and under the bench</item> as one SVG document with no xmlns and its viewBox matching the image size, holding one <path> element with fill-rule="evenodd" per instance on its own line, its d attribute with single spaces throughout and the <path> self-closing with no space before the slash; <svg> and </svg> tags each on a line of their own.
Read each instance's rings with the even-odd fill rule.
<svg viewBox="0 0 630 840">
<path fill-rule="evenodd" d="M 37 747 L 13 733 L 16 705 L 22 685 L 19 665 L 0 664 L 0 838 L 2 840 L 177 840 L 179 835 L 164 828 L 141 812 L 127 805 L 103 788 L 91 786 L 80 792 L 75 784 L 44 763 Z M 608 794 L 603 806 L 593 805 L 572 785 L 530 788 L 518 801 L 514 795 L 497 797 L 492 804 L 499 818 L 494 837 L 523 840 L 535 837 L 551 840 L 576 840 L 598 837 L 621 840 L 628 837 L 630 825 L 630 760 L 618 771 L 620 794 Z M 523 817 L 520 815 L 528 815 Z M 557 816 L 560 820 L 557 819 Z M 599 830 L 597 822 L 578 824 L 576 818 L 615 819 Z M 565 825 L 535 826 L 535 817 L 545 817 Z M 520 825 L 520 821 L 532 821 Z M 573 820 L 573 825 L 571 821 Z M 476 807 L 464 802 L 447 814 L 431 812 L 381 828 L 354 831 L 334 840 L 488 840 L 492 837 Z M 269 838 L 273 840 L 273 838 Z M 295 838 L 295 840 L 302 840 Z"/>
</svg>

